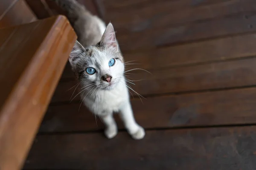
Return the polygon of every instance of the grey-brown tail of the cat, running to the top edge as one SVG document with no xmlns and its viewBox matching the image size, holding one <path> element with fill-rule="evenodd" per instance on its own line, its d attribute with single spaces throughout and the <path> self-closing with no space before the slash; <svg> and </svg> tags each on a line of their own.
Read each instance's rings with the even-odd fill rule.
<svg viewBox="0 0 256 170">
<path fill-rule="evenodd" d="M 65 12 L 66 17 L 73 25 L 81 15 L 92 15 L 83 5 L 79 4 L 76 0 L 52 0 L 62 11 Z"/>
</svg>

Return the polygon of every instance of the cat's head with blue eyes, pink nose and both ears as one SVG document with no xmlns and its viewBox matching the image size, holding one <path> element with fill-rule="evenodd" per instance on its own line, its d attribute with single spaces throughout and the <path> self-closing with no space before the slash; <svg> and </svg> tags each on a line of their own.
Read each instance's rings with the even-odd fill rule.
<svg viewBox="0 0 256 170">
<path fill-rule="evenodd" d="M 110 90 L 123 77 L 124 59 L 111 23 L 97 45 L 84 48 L 76 41 L 69 61 L 82 86 Z"/>
</svg>

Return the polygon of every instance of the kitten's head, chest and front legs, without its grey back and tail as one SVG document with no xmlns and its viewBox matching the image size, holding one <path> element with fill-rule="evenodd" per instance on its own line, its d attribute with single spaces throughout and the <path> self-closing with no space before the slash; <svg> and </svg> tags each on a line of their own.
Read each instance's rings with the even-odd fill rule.
<svg viewBox="0 0 256 170">
<path fill-rule="evenodd" d="M 134 119 L 128 88 L 125 84 L 125 65 L 115 31 L 108 24 L 100 42 L 84 48 L 76 42 L 69 58 L 81 85 L 81 99 L 91 112 L 105 124 L 105 135 L 111 139 L 117 134 L 113 113 L 118 112 L 133 139 L 145 136 L 143 127 Z"/>
</svg>

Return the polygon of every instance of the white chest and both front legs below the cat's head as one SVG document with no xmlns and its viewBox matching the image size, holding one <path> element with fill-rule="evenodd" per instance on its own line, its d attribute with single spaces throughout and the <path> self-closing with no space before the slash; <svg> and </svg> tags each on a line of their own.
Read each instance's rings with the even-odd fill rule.
<svg viewBox="0 0 256 170">
<path fill-rule="evenodd" d="M 82 95 L 82 98 L 85 95 Z M 91 96 L 84 98 L 84 104 L 91 112 L 101 117 L 106 125 L 105 135 L 109 139 L 117 134 L 113 112 L 119 112 L 128 133 L 134 139 L 142 139 L 144 137 L 144 129 L 135 122 L 124 78 L 112 90 L 97 90 Z"/>
</svg>

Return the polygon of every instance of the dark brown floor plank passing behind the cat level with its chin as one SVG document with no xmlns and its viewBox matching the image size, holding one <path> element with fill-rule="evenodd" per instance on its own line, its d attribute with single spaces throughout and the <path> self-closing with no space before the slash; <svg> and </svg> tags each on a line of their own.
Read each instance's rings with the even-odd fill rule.
<svg viewBox="0 0 256 170">
<path fill-rule="evenodd" d="M 163 63 L 165 62 L 163 61 Z M 128 74 L 127 78 L 141 81 L 132 82 L 135 85 L 131 82 L 127 82 L 127 84 L 143 96 L 251 86 L 256 85 L 255 65 L 256 58 L 253 57 L 151 70 L 152 75 L 141 70 L 131 71 L 129 73 L 132 74 Z M 70 76 L 72 74 L 70 71 Z M 76 94 L 79 94 L 80 87 L 76 88 L 76 84 L 74 76 L 73 79 L 61 80 L 52 97 L 52 102 L 70 102 L 73 98 L 73 100 L 79 101 L 80 95 L 76 96 Z M 130 91 L 137 96 L 132 90 Z"/>
</svg>

